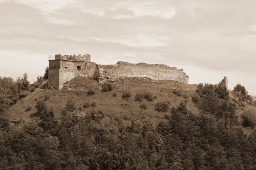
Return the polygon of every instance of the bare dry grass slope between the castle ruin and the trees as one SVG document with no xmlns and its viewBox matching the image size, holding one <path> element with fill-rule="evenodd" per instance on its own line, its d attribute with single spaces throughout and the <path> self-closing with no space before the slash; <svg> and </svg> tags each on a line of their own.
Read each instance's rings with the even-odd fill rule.
<svg viewBox="0 0 256 170">
<path fill-rule="evenodd" d="M 120 116 L 123 122 L 129 124 L 132 119 L 139 119 L 141 116 L 146 116 L 151 119 L 154 125 L 158 122 L 164 121 L 165 116 L 169 112 L 155 111 L 157 102 L 169 101 L 170 108 L 178 106 L 180 101 L 186 102 L 189 111 L 198 114 L 199 110 L 195 107 L 191 100 L 191 96 L 195 93 L 196 85 L 184 84 L 176 81 L 152 81 L 147 78 L 124 78 L 118 79 L 113 84 L 113 90 L 108 92 L 102 91 L 102 85 L 96 80 L 85 77 L 76 77 L 64 86 L 69 87 L 69 90 L 51 91 L 38 89 L 32 94 L 29 94 L 21 101 L 13 105 L 7 115 L 11 120 L 22 120 L 21 122 L 37 121 L 35 118 L 36 102 L 42 100 L 49 108 L 55 111 L 55 118 L 59 119 L 61 111 L 69 100 L 72 100 L 76 108 L 80 108 L 81 113 L 90 113 L 91 111 L 102 111 L 105 115 Z M 88 91 L 93 91 L 93 95 L 88 95 Z M 129 100 L 123 99 L 123 92 L 130 92 Z M 134 97 L 140 92 L 150 92 L 154 96 L 154 101 L 147 100 L 135 101 Z M 116 93 L 116 97 L 113 94 Z M 235 102 L 237 99 L 230 94 L 230 101 Z M 95 107 L 90 106 L 84 108 L 84 104 L 91 105 L 96 103 Z M 141 104 L 145 104 L 146 108 L 140 108 Z M 30 110 L 31 109 L 31 110 Z M 239 107 L 236 111 L 237 115 L 241 115 L 245 110 L 255 112 L 256 108 L 251 105 Z"/>
</svg>

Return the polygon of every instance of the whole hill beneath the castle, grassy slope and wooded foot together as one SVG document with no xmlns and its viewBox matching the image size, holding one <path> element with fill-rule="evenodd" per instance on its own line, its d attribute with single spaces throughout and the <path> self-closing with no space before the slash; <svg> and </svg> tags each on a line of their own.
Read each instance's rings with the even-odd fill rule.
<svg viewBox="0 0 256 170">
<path fill-rule="evenodd" d="M 225 86 L 110 83 L 107 91 L 111 85 L 76 77 L 61 91 L 37 89 L 9 108 L 12 123 L 0 119 L 1 169 L 256 169 L 256 108 Z M 166 112 L 155 111 L 159 103 Z"/>
</svg>

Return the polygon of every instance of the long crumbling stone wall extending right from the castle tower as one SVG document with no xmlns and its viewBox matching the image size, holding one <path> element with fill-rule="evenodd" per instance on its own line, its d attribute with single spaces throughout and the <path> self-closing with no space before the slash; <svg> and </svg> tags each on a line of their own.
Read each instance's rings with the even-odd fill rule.
<svg viewBox="0 0 256 170">
<path fill-rule="evenodd" d="M 115 65 L 98 65 L 99 77 L 148 77 L 154 80 L 176 80 L 188 83 L 189 77 L 183 69 L 167 65 L 117 62 Z M 102 74 L 100 75 L 100 72 Z"/>
</svg>

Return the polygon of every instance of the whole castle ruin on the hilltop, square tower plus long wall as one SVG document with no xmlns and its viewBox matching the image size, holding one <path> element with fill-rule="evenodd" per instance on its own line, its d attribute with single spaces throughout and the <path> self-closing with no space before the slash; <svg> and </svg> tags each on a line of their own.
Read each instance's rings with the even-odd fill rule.
<svg viewBox="0 0 256 170">
<path fill-rule="evenodd" d="M 114 65 L 100 65 L 91 62 L 90 55 L 55 55 L 49 59 L 48 86 L 56 89 L 63 88 L 65 82 L 82 76 L 93 77 L 99 82 L 105 79 L 120 77 L 147 77 L 153 80 L 175 80 L 188 83 L 189 76 L 183 69 L 160 64 L 137 63 L 119 61 Z"/>
</svg>

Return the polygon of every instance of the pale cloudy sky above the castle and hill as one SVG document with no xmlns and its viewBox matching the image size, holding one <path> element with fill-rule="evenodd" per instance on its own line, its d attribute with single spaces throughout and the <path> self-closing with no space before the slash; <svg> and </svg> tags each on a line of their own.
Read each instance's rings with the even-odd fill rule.
<svg viewBox="0 0 256 170">
<path fill-rule="evenodd" d="M 0 0 L 0 76 L 44 74 L 48 56 L 166 64 L 190 84 L 256 95 L 255 0 Z M 64 48 L 65 42 L 65 50 Z"/>
</svg>

